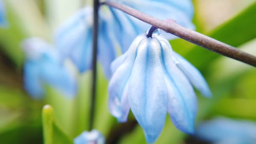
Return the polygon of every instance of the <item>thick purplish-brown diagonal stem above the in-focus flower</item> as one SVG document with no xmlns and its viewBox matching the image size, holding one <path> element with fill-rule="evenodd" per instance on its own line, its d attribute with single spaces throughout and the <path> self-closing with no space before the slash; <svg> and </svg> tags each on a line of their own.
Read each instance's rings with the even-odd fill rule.
<svg viewBox="0 0 256 144">
<path fill-rule="evenodd" d="M 208 37 L 206 35 L 195 32 L 191 29 L 184 28 L 184 27 L 180 26 L 179 24 L 176 24 L 175 21 L 163 21 L 160 19 L 156 19 L 152 16 L 141 13 L 140 11 L 137 11 L 136 9 L 133 9 L 131 7 L 128 7 L 128 6 L 123 5 L 122 3 L 119 3 L 116 1 L 114 2 L 114 1 L 106 0 L 102 3 L 112 6 L 114 8 L 117 8 L 117 9 L 119 9 L 125 13 L 128 13 L 129 15 L 131 15 L 141 21 L 144 21 L 148 24 L 151 24 L 152 26 L 163 29 L 165 32 L 169 32 L 173 35 L 176 35 L 184 40 L 187 40 L 191 43 L 199 45 L 203 48 L 207 48 L 210 51 L 214 51 L 216 53 L 222 54 L 229 58 L 236 59 L 238 61 L 242 61 L 246 64 L 250 64 L 250 65 L 256 67 L 256 57 L 255 56 L 245 53 L 243 51 L 240 51 L 237 48 L 234 48 L 230 45 L 222 43 L 222 42 L 215 40 L 211 37 Z"/>
</svg>

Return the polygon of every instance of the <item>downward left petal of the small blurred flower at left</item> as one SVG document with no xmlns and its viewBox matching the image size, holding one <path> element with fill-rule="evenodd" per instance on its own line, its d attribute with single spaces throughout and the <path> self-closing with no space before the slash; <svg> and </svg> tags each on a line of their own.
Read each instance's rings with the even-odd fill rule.
<svg viewBox="0 0 256 144">
<path fill-rule="evenodd" d="M 26 61 L 24 64 L 24 87 L 34 99 L 42 99 L 44 90 L 40 81 L 40 62 Z"/>
</svg>

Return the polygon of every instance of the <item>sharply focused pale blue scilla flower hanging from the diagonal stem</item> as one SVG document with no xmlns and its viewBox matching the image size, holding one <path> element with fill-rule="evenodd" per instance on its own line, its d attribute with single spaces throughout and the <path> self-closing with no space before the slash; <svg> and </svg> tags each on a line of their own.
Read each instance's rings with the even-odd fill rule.
<svg viewBox="0 0 256 144">
<path fill-rule="evenodd" d="M 179 130 L 193 133 L 197 99 L 192 85 L 205 96 L 211 96 L 211 91 L 200 72 L 172 51 L 158 29 L 153 35 L 136 37 L 111 68 L 109 110 L 119 122 L 127 120 L 131 109 L 152 143 L 168 112 Z"/>
</svg>

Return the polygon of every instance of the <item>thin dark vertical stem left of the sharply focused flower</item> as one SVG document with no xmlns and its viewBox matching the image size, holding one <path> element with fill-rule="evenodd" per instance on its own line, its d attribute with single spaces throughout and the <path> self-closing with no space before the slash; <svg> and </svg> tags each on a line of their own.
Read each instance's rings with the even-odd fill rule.
<svg viewBox="0 0 256 144">
<path fill-rule="evenodd" d="M 99 18 L 99 0 L 93 1 L 93 60 L 92 60 L 92 91 L 91 91 L 91 114 L 89 131 L 93 128 L 93 118 L 95 112 L 95 100 L 96 100 L 96 81 L 97 81 L 97 47 L 98 47 L 98 18 Z"/>
</svg>

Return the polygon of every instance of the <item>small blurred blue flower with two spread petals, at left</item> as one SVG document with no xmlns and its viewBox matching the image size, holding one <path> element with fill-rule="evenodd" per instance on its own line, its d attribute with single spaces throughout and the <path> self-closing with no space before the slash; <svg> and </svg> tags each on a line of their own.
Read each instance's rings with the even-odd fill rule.
<svg viewBox="0 0 256 144">
<path fill-rule="evenodd" d="M 65 96 L 76 93 L 75 75 L 61 64 L 59 53 L 44 40 L 32 37 L 23 41 L 27 59 L 24 63 L 24 86 L 35 99 L 44 95 L 44 86 L 50 85 Z"/>
</svg>

